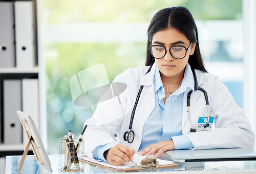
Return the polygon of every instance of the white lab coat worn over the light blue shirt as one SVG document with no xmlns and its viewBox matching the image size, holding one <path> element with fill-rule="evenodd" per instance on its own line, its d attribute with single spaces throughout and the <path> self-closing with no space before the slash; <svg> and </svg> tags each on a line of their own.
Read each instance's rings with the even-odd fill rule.
<svg viewBox="0 0 256 174">
<path fill-rule="evenodd" d="M 114 79 L 113 82 L 127 84 L 126 90 L 119 95 L 122 106 L 119 104 L 118 97 L 98 103 L 93 117 L 85 122 L 88 127 L 83 139 L 84 153 L 87 156 L 92 158 L 92 151 L 95 147 L 115 142 L 113 138 L 115 133 L 123 145 L 129 145 L 135 151 L 139 149 L 144 123 L 155 107 L 153 82 L 156 63 L 145 75 L 148 68 L 128 69 Z M 199 70 L 196 70 L 196 74 L 198 85 L 208 93 L 209 109 L 214 116 L 215 128 L 208 132 L 190 132 L 191 125 L 188 119 L 186 100 L 188 91 L 186 91 L 183 101 L 182 134 L 186 135 L 195 145 L 194 149 L 253 147 L 252 127 L 226 86 L 215 75 Z M 140 85 L 144 85 L 144 88 L 132 126 L 135 139 L 133 143 L 129 144 L 123 140 L 123 134 L 129 128 L 131 113 Z M 190 100 L 190 116 L 194 126 L 197 126 L 198 117 L 202 113 L 207 115 L 204 94 L 195 91 L 191 94 Z"/>
</svg>

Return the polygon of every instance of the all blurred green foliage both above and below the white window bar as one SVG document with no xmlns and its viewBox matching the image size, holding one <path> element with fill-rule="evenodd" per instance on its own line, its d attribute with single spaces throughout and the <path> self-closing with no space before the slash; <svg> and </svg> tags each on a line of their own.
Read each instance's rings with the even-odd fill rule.
<svg viewBox="0 0 256 174">
<path fill-rule="evenodd" d="M 44 0 L 44 24 L 150 21 L 158 10 L 178 5 L 187 7 L 196 20 L 238 19 L 242 16 L 242 0 Z M 104 63 L 111 82 L 125 69 L 144 65 L 146 43 L 48 43 L 44 51 L 48 146 L 50 154 L 57 154 L 57 140 L 69 130 L 78 137 L 84 121 L 92 116 L 91 107 L 73 104 L 70 78 L 81 70 Z"/>
</svg>

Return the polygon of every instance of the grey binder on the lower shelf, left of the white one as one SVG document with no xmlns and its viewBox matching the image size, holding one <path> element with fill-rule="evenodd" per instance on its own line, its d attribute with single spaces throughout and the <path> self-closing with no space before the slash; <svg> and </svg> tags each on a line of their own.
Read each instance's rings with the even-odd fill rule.
<svg viewBox="0 0 256 174">
<path fill-rule="evenodd" d="M 16 111 L 22 109 L 22 80 L 4 79 L 4 143 L 22 143 L 22 124 Z"/>
</svg>

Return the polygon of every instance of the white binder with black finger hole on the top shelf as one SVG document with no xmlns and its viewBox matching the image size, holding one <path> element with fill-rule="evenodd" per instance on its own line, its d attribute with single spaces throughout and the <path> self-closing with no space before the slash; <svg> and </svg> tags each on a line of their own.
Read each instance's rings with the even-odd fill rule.
<svg viewBox="0 0 256 174">
<path fill-rule="evenodd" d="M 35 23 L 32 1 L 15 1 L 16 66 L 31 68 L 35 60 Z"/>
</svg>

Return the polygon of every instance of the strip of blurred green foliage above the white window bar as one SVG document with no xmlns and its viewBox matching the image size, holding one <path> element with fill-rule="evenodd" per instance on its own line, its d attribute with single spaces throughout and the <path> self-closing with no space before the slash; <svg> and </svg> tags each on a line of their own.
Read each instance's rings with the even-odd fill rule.
<svg viewBox="0 0 256 174">
<path fill-rule="evenodd" d="M 45 23 L 150 21 L 160 9 L 185 6 L 196 20 L 237 19 L 242 0 L 45 0 Z"/>
</svg>

